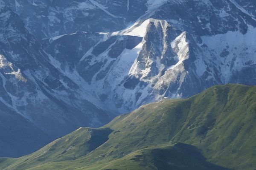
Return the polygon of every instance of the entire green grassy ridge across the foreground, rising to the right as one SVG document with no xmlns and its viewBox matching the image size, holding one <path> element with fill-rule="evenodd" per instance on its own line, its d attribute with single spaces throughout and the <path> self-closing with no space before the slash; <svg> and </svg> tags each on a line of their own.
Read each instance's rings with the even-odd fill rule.
<svg viewBox="0 0 256 170">
<path fill-rule="evenodd" d="M 144 105 L 99 129 L 81 128 L 29 156 L 15 159 L 12 164 L 5 159 L 0 167 L 5 167 L 4 170 L 142 170 L 147 162 L 151 167 L 146 169 L 154 170 L 161 169 L 157 167 L 161 164 L 164 167 L 172 164 L 172 160 L 183 154 L 180 161 L 191 162 L 190 167 L 210 162 L 212 166 L 232 170 L 255 170 L 255 122 L 256 86 L 215 86 L 189 99 L 166 99 Z M 187 156 L 174 145 L 179 142 L 198 148 L 206 160 Z M 170 151 L 170 148 L 176 149 Z M 161 151 L 155 154 L 155 150 Z M 140 159 L 141 156 L 145 159 Z M 173 161 L 172 165 L 186 170 L 179 167 L 179 161 Z M 205 168 L 214 170 L 214 167 Z"/>
</svg>

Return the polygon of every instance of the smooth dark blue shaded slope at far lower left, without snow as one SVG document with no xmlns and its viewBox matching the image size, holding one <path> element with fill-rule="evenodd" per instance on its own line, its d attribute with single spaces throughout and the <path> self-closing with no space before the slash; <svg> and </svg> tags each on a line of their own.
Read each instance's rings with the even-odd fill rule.
<svg viewBox="0 0 256 170">
<path fill-rule="evenodd" d="M 2 102 L 0 108 L 0 157 L 29 154 L 52 141 L 45 132 Z"/>
</svg>

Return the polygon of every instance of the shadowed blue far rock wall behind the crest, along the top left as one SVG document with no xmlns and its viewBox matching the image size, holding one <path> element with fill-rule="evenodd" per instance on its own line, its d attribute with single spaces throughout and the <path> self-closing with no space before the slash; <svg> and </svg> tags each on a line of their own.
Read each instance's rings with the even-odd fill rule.
<svg viewBox="0 0 256 170">
<path fill-rule="evenodd" d="M 146 0 L 3 0 L 38 40 L 71 34 L 118 31 L 147 10 Z"/>
</svg>

